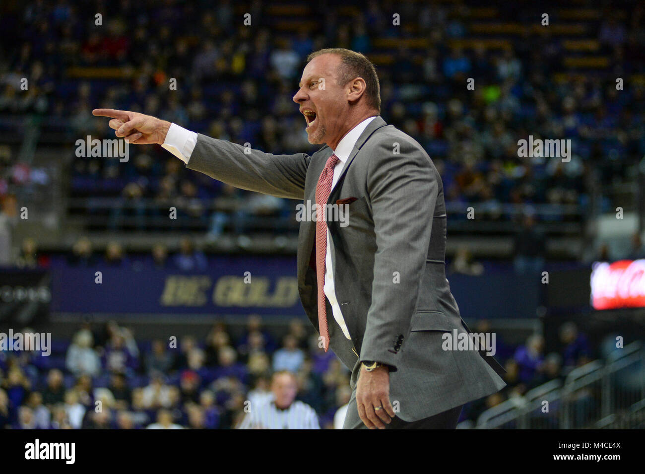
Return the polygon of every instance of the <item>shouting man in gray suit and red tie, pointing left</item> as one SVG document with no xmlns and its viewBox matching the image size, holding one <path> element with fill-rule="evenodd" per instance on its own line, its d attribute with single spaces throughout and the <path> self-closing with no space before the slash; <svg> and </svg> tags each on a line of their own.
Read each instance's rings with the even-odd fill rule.
<svg viewBox="0 0 645 474">
<path fill-rule="evenodd" d="M 419 143 L 380 117 L 379 79 L 364 55 L 312 53 L 293 101 L 310 143 L 325 144 L 311 156 L 252 150 L 135 112 L 93 113 L 112 117 L 128 143 L 161 144 L 224 183 L 346 210 L 348 225 L 301 222 L 297 264 L 321 347 L 352 370 L 344 428 L 455 428 L 463 404 L 505 384 L 493 357 L 446 344 L 469 331 L 446 280 L 441 177 Z"/>
</svg>

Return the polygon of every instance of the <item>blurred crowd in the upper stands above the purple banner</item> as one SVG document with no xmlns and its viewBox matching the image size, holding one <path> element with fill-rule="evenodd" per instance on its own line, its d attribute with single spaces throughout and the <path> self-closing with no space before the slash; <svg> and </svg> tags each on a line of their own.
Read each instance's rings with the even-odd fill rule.
<svg viewBox="0 0 645 474">
<path fill-rule="evenodd" d="M 581 20 L 587 30 L 581 39 L 598 41 L 598 54 L 610 58 L 606 68 L 582 74 L 565 64 L 568 37 L 548 26 L 536 28 L 542 12 L 537 6 L 499 8 L 495 21 L 525 28 L 507 35 L 508 47 L 491 49 L 483 42 L 459 43 L 473 37 L 469 29 L 475 21 L 461 4 L 370 1 L 349 17 L 327 8 L 315 21 L 303 17 L 311 28 L 300 33 L 279 30 L 276 25 L 295 17 L 281 16 L 261 1 L 167 0 L 160 5 L 121 0 L 110 4 L 109 14 L 105 5 L 100 0 L 37 0 L 2 15 L 2 55 L 8 67 L 0 114 L 48 117 L 66 144 L 86 135 L 113 138 L 104 121 L 91 115 L 102 106 L 156 115 L 267 152 L 312 152 L 318 147 L 306 141 L 292 96 L 306 55 L 333 45 L 381 59 L 384 119 L 426 148 L 441 173 L 446 201 L 485 204 L 491 219 L 508 218 L 501 203 L 584 208 L 590 186 L 629 179 L 630 165 L 645 152 L 645 88 L 628 80 L 645 72 L 640 4 L 616 5 L 607 12 L 596 6 L 599 19 Z M 97 12 L 103 12 L 100 26 L 94 23 Z M 244 12 L 250 13 L 252 26 L 243 25 Z M 392 12 L 401 15 L 401 26 L 392 25 Z M 552 14 L 551 24 L 558 21 Z M 393 43 L 384 46 L 382 40 L 388 39 Z M 415 47 L 418 39 L 428 46 Z M 25 92 L 17 88 L 23 76 L 30 79 Z M 466 88 L 469 77 L 473 90 Z M 624 79 L 622 90 L 617 90 L 617 77 Z M 169 87 L 172 79 L 176 89 Z M 517 141 L 528 135 L 571 139 L 571 161 L 520 159 Z M 154 217 L 168 208 L 166 201 L 202 219 L 213 235 L 226 225 L 243 224 L 227 217 L 238 208 L 293 212 L 284 200 L 258 203 L 251 193 L 186 173 L 159 147 L 135 148 L 134 159 L 125 165 L 70 157 L 72 197 L 115 199 L 108 204 L 107 228 L 119 228 L 123 212 Z M 5 166 L 0 193 L 11 181 L 10 164 Z M 152 206 L 143 203 L 148 198 Z M 611 202 L 602 205 L 610 209 Z M 226 212 L 215 217 L 218 206 Z M 100 207 L 94 202 L 86 212 Z M 144 225 L 142 219 L 135 227 Z"/>
</svg>

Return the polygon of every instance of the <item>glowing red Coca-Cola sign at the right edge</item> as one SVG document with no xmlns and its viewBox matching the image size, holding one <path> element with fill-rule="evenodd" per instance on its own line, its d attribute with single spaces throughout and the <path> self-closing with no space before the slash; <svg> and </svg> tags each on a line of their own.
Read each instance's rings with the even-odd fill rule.
<svg viewBox="0 0 645 474">
<path fill-rule="evenodd" d="M 591 306 L 596 310 L 645 308 L 645 259 L 595 262 Z"/>
</svg>

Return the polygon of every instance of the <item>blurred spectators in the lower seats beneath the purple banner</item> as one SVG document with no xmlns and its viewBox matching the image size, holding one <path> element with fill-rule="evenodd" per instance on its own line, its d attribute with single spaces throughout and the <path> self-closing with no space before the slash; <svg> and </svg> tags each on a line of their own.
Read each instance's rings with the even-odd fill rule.
<svg viewBox="0 0 645 474">
<path fill-rule="evenodd" d="M 490 331 L 490 323 L 479 322 L 475 331 Z M 320 350 L 308 324 L 295 319 L 276 336 L 252 315 L 238 337 L 232 333 L 217 323 L 203 339 L 137 341 L 115 322 L 98 328 L 87 322 L 71 341 L 54 341 L 48 357 L 0 351 L 0 428 L 237 428 L 248 402 L 271 399 L 276 371 L 293 373 L 297 400 L 315 410 L 321 428 L 334 428 L 351 396 L 350 372 L 332 351 Z M 498 334 L 495 357 L 508 371 L 508 387 L 467 404 L 461 420 L 473 423 L 486 408 L 564 379 L 593 359 L 575 324 L 564 324 L 560 339 L 560 350 L 545 354 L 541 335 L 513 346 Z"/>
</svg>

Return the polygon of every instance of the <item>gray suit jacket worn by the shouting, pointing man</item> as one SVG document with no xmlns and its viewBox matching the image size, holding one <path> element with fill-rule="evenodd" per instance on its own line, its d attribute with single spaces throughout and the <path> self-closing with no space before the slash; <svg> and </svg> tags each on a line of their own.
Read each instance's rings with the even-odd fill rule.
<svg viewBox="0 0 645 474">
<path fill-rule="evenodd" d="M 186 166 L 237 188 L 315 203 L 332 150 L 273 155 L 198 135 Z M 352 198 L 352 199 L 350 199 Z M 353 199 L 356 198 L 356 199 Z M 390 400 L 402 420 L 430 417 L 500 390 L 504 370 L 477 351 L 442 350 L 446 331 L 468 331 L 445 274 L 443 185 L 428 153 L 376 117 L 332 189 L 350 202 L 349 225 L 328 222 L 336 297 L 352 340 L 328 311 L 330 348 L 352 370 L 362 360 L 393 367 Z M 318 330 L 315 222 L 301 222 L 297 280 Z"/>
</svg>

